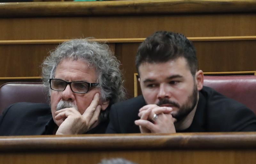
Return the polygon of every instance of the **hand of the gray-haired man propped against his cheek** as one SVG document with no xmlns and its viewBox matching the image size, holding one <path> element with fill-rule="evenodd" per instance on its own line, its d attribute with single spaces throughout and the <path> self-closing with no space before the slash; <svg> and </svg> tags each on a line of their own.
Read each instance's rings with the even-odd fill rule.
<svg viewBox="0 0 256 164">
<path fill-rule="evenodd" d="M 101 106 L 98 105 L 100 94 L 96 93 L 90 106 L 81 115 L 75 108 L 64 108 L 56 111 L 56 120 L 63 119 L 58 134 L 83 134 L 98 121 Z"/>
</svg>

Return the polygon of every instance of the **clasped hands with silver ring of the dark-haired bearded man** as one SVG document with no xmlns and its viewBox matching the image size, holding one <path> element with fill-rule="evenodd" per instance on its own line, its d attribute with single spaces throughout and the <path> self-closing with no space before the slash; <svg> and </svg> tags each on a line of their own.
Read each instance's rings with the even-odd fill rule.
<svg viewBox="0 0 256 164">
<path fill-rule="evenodd" d="M 146 105 L 139 110 L 140 120 L 135 124 L 140 126 L 141 133 L 175 133 L 175 118 L 170 114 L 172 108 L 159 107 L 155 104 Z M 155 121 L 152 121 L 154 115 L 157 115 Z"/>
</svg>

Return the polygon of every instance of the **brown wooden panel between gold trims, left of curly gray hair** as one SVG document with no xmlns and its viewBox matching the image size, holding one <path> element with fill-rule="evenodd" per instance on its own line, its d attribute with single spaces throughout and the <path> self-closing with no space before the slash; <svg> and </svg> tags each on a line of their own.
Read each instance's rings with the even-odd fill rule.
<svg viewBox="0 0 256 164">
<path fill-rule="evenodd" d="M 0 45 L 0 77 L 41 76 L 41 63 L 56 44 Z"/>
</svg>

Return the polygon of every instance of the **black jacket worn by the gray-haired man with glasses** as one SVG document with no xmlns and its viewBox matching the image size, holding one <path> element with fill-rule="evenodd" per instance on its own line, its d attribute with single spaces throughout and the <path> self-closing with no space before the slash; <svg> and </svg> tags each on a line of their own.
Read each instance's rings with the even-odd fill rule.
<svg viewBox="0 0 256 164">
<path fill-rule="evenodd" d="M 105 133 L 108 121 L 101 122 L 86 134 Z M 0 116 L 0 136 L 50 135 L 57 125 L 48 104 L 19 102 L 6 108 Z"/>
</svg>

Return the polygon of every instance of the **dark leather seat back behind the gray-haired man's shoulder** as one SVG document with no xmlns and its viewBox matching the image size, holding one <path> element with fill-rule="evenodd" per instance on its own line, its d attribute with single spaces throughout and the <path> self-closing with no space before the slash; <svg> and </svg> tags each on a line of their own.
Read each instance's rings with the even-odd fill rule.
<svg viewBox="0 0 256 164">
<path fill-rule="evenodd" d="M 0 86 L 0 115 L 15 102 L 48 103 L 42 83 L 11 82 Z"/>
</svg>

